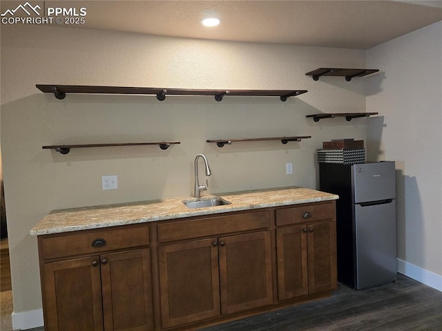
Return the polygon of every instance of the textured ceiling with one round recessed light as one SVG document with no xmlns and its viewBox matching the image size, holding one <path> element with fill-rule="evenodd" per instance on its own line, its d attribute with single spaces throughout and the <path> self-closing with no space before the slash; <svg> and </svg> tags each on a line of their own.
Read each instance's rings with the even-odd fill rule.
<svg viewBox="0 0 442 331">
<path fill-rule="evenodd" d="M 10 1 L 2 1 L 2 12 L 3 2 Z M 76 28 L 354 49 L 442 20 L 442 1 L 119 0 L 46 1 L 44 6 L 86 8 L 86 23 Z M 220 26 L 201 26 L 206 15 L 219 17 Z"/>
</svg>

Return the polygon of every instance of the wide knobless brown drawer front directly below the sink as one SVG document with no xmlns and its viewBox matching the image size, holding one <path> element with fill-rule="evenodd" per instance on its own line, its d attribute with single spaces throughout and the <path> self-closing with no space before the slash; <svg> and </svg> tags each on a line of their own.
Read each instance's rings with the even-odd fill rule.
<svg viewBox="0 0 442 331">
<path fill-rule="evenodd" d="M 231 232 L 263 229 L 269 226 L 270 214 L 268 210 L 159 223 L 158 242 L 218 236 Z"/>
</svg>

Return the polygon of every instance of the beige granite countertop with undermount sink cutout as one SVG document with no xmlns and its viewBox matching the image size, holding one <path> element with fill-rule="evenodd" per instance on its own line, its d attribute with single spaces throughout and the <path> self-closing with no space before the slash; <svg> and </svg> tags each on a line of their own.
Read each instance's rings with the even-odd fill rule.
<svg viewBox="0 0 442 331">
<path fill-rule="evenodd" d="M 231 202 L 231 204 L 190 209 L 186 207 L 182 201 L 196 199 L 187 196 L 162 200 L 127 202 L 117 205 L 54 210 L 37 223 L 37 225 L 30 230 L 30 234 L 32 236 L 40 236 L 43 234 L 57 234 L 84 229 L 114 227 L 117 225 L 338 199 L 338 196 L 335 194 L 302 187 L 242 191 L 216 194 L 215 196 L 220 196 Z M 208 198 L 208 196 L 203 196 L 202 200 L 204 200 L 204 198 Z"/>
</svg>

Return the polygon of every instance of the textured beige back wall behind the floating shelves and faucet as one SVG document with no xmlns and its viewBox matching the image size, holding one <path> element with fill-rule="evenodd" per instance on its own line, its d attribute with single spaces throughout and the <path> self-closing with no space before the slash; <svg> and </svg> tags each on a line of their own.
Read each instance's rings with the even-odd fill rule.
<svg viewBox="0 0 442 331">
<path fill-rule="evenodd" d="M 1 151 L 10 229 L 15 313 L 39 310 L 37 239 L 50 210 L 189 196 L 193 160 L 204 153 L 210 191 L 300 185 L 316 188 L 316 149 L 332 138 L 365 139 L 365 119 L 318 123 L 305 115 L 365 111 L 364 79 L 305 76 L 320 66 L 363 67 L 361 50 L 245 44 L 44 26 L 1 28 Z M 35 84 L 164 88 L 307 89 L 278 98 L 67 95 Z M 219 149 L 214 138 L 311 135 L 302 142 L 249 142 Z M 42 150 L 47 144 L 180 140 L 157 146 Z M 293 162 L 294 175 L 285 174 Z M 102 191 L 101 176 L 119 189 Z M 31 325 L 32 327 L 38 325 Z"/>
</svg>

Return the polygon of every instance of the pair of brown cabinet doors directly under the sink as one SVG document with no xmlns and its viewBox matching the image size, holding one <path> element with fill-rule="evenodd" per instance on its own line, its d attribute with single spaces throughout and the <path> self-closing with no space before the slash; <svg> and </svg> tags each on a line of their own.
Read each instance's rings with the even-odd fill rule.
<svg viewBox="0 0 442 331">
<path fill-rule="evenodd" d="M 270 231 L 172 243 L 158 252 L 164 328 L 273 303 Z"/>
</svg>

